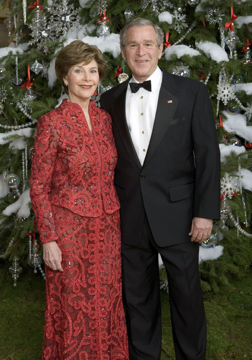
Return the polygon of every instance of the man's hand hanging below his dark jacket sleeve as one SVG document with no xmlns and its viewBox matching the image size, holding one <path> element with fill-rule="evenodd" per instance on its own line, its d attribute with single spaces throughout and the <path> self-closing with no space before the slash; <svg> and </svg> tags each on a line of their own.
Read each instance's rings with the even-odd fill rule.
<svg viewBox="0 0 252 360">
<path fill-rule="evenodd" d="M 192 236 L 191 241 L 202 242 L 206 240 L 211 235 L 212 227 L 213 219 L 194 217 L 189 232 L 189 235 Z"/>
</svg>

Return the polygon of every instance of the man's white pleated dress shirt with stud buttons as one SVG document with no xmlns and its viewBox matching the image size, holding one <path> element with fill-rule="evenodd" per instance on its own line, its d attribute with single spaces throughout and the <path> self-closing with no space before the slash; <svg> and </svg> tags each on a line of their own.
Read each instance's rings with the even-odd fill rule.
<svg viewBox="0 0 252 360">
<path fill-rule="evenodd" d="M 162 82 L 161 69 L 157 66 L 147 80 L 151 80 L 151 91 L 140 87 L 134 93 L 128 84 L 126 92 L 126 120 L 141 165 L 144 163 L 155 120 Z M 129 82 L 139 81 L 132 76 Z"/>
</svg>

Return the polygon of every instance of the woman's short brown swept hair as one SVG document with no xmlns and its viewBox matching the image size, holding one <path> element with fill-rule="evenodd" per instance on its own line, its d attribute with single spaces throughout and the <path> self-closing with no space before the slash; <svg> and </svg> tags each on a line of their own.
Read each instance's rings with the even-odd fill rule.
<svg viewBox="0 0 252 360">
<path fill-rule="evenodd" d="M 67 94 L 68 86 L 64 86 L 63 79 L 67 75 L 69 68 L 80 62 L 88 64 L 92 60 L 97 62 L 99 76 L 103 77 L 107 65 L 101 50 L 95 45 L 89 45 L 81 40 L 74 40 L 59 51 L 55 60 L 55 72 Z"/>
</svg>

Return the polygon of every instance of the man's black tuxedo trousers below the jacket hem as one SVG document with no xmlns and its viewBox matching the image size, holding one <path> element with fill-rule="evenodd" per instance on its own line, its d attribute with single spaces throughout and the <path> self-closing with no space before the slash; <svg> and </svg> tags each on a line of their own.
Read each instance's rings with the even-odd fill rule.
<svg viewBox="0 0 252 360">
<path fill-rule="evenodd" d="M 168 276 L 176 360 L 204 360 L 206 317 L 199 274 L 199 244 L 190 241 L 157 246 L 146 216 L 139 244 L 122 244 L 122 283 L 130 360 L 160 360 L 158 253 Z"/>
</svg>

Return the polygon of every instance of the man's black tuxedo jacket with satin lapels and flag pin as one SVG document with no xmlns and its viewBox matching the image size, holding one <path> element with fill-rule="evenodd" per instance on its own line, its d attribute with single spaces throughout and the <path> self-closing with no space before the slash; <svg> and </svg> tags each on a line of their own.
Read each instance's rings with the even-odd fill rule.
<svg viewBox="0 0 252 360">
<path fill-rule="evenodd" d="M 194 216 L 220 218 L 220 150 L 207 86 L 163 70 L 158 106 L 141 166 L 125 115 L 129 80 L 101 95 L 118 152 L 115 187 L 122 242 L 136 245 L 145 213 L 156 243 L 190 241 Z"/>
</svg>

